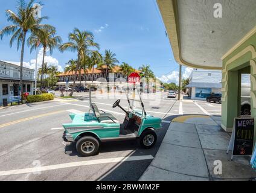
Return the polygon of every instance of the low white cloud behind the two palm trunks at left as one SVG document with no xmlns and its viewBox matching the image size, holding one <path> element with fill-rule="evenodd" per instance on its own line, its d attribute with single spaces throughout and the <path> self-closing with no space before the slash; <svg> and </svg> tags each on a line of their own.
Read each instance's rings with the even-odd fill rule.
<svg viewBox="0 0 256 193">
<path fill-rule="evenodd" d="M 47 52 L 46 52 L 47 53 Z M 5 61 L 8 62 L 8 61 Z M 37 55 L 37 69 L 41 68 L 43 62 L 43 48 L 39 50 L 39 53 Z M 8 62 L 13 63 L 14 65 L 21 65 L 21 62 Z M 58 71 L 63 72 L 62 66 L 59 65 L 59 61 L 50 55 L 45 56 L 45 63 L 47 63 L 48 66 L 56 66 L 58 68 Z M 25 68 L 30 69 L 36 69 L 36 59 L 30 60 L 30 62 L 23 62 L 23 66 Z"/>
</svg>

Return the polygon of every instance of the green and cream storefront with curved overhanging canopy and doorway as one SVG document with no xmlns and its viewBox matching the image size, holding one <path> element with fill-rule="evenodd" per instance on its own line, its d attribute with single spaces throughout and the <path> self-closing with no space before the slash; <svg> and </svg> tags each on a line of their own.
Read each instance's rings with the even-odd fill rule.
<svg viewBox="0 0 256 193">
<path fill-rule="evenodd" d="M 158 6 L 176 61 L 222 71 L 222 128 L 231 131 L 240 116 L 242 74 L 250 75 L 256 118 L 255 0 L 158 0 Z"/>
</svg>

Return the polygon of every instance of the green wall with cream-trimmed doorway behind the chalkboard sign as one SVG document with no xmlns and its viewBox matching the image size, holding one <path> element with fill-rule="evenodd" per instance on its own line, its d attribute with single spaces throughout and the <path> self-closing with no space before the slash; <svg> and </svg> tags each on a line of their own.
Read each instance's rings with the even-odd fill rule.
<svg viewBox="0 0 256 193">
<path fill-rule="evenodd" d="M 243 43 L 223 59 L 222 127 L 226 131 L 232 131 L 234 118 L 239 115 L 241 72 L 251 73 L 251 112 L 256 119 L 256 32 L 246 37 Z"/>
</svg>

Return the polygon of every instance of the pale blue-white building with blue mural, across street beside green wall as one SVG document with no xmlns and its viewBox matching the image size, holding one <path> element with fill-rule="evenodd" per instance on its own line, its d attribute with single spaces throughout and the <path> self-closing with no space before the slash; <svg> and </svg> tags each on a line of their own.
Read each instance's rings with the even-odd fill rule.
<svg viewBox="0 0 256 193">
<path fill-rule="evenodd" d="M 221 71 L 192 71 L 188 93 L 192 100 L 206 100 L 211 93 L 222 93 Z"/>
</svg>

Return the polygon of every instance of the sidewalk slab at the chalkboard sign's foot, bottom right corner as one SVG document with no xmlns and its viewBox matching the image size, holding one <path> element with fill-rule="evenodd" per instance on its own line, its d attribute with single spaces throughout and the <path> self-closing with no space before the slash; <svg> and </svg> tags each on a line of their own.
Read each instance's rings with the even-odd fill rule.
<svg viewBox="0 0 256 193">
<path fill-rule="evenodd" d="M 231 161 L 231 155 L 226 150 L 204 150 L 210 174 L 214 179 L 250 179 L 256 177 L 256 172 L 249 165 L 249 160 L 243 156 L 235 156 Z M 222 175 L 214 174 L 214 161 L 222 161 Z"/>
</svg>

